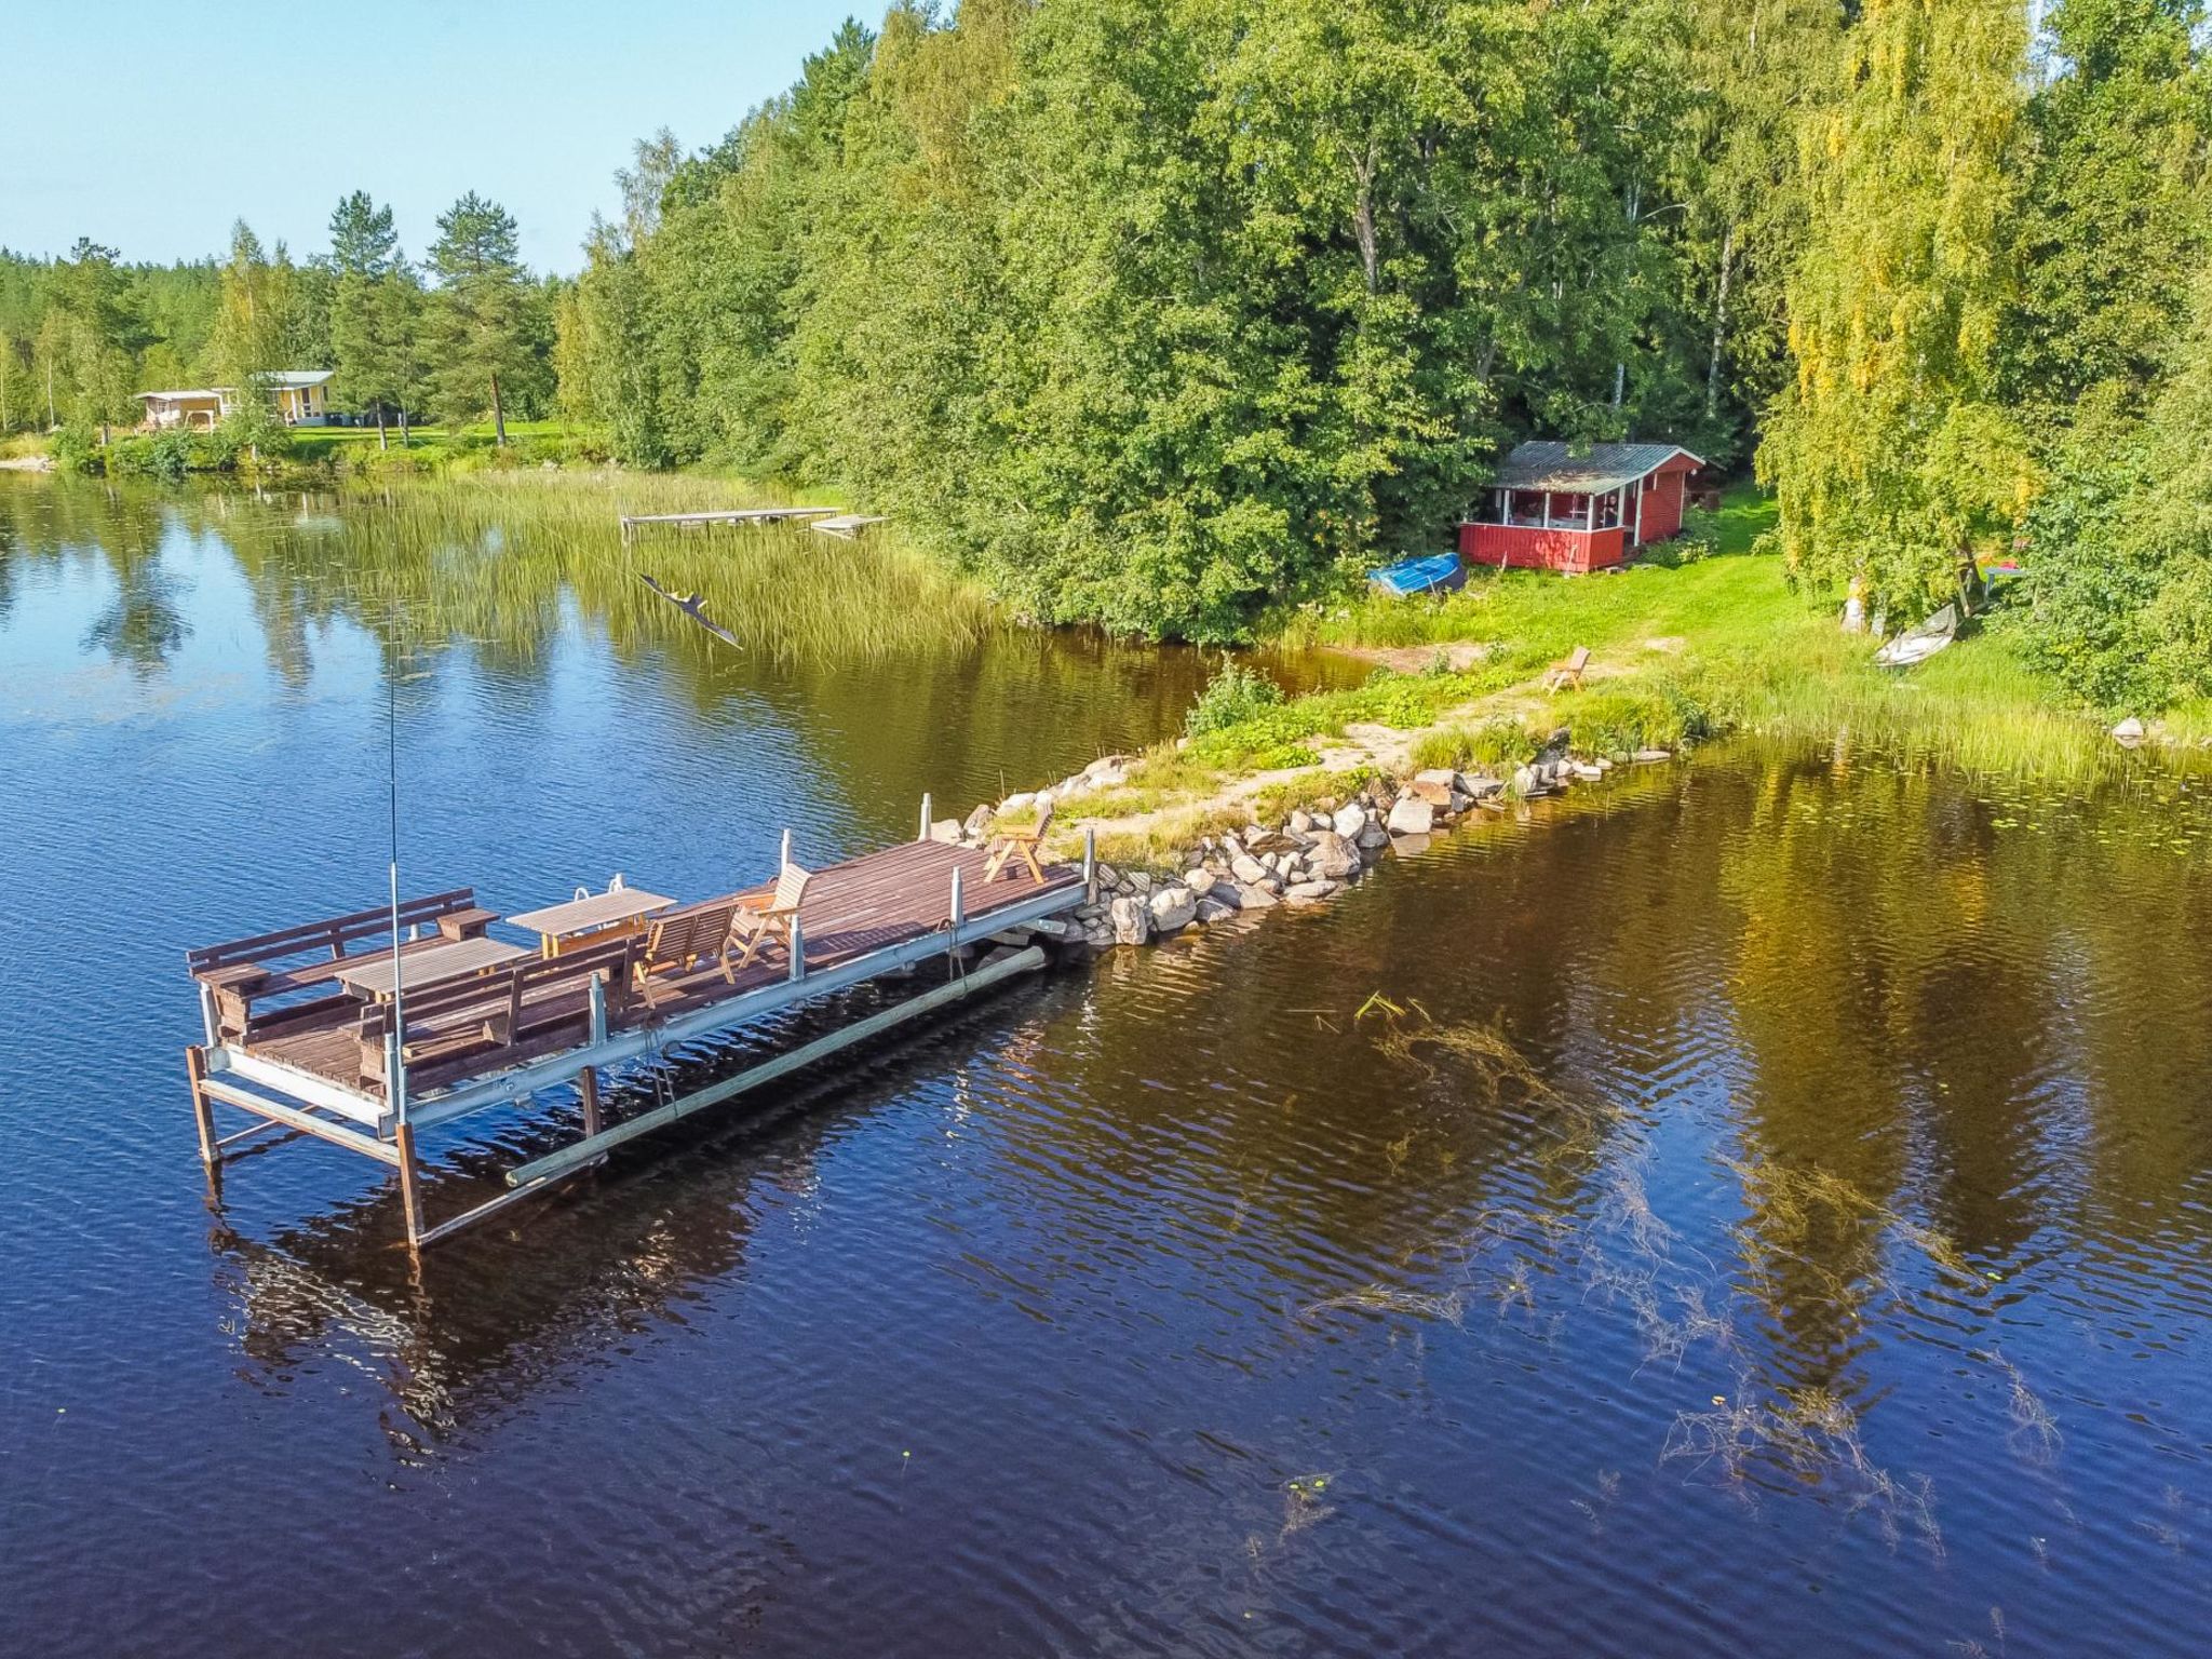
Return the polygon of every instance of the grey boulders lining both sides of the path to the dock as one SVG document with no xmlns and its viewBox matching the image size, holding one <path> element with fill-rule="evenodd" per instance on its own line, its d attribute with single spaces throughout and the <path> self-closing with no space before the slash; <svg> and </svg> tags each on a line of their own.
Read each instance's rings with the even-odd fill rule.
<svg viewBox="0 0 2212 1659">
<path fill-rule="evenodd" d="M 1115 867 L 1099 860 L 1091 898 L 1073 914 L 1064 945 L 1104 953 L 1152 945 L 1192 927 L 1276 907 L 1325 905 L 1385 856 L 1425 852 L 1429 838 L 1469 814 L 1502 814 L 1522 801 L 1564 794 L 1577 783 L 1599 783 L 1617 765 L 1657 765 L 1670 750 L 1584 759 L 1566 752 L 1564 734 L 1511 776 L 1425 770 L 1407 779 L 1374 776 L 1347 799 L 1321 794 L 1281 823 L 1248 823 L 1199 836 L 1179 856 L 1152 867 Z M 1137 757 L 1108 754 L 1044 790 L 1009 794 L 978 805 L 967 818 L 929 825 L 933 841 L 989 847 L 995 825 L 1053 807 L 1055 818 L 1088 794 L 1128 781 Z M 1318 781 L 1318 779 L 1316 779 Z"/>
</svg>

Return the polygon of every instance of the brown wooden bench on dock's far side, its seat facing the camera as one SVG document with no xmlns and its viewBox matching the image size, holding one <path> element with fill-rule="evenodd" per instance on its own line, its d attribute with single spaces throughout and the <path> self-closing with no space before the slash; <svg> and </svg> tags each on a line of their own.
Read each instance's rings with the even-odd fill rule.
<svg viewBox="0 0 2212 1659">
<path fill-rule="evenodd" d="M 392 949 L 392 920 L 389 905 L 358 909 L 321 922 L 281 927 L 274 933 L 201 945 L 197 951 L 184 953 L 184 964 L 212 995 L 217 1031 L 226 1037 L 259 1042 L 274 1031 L 314 1024 L 354 1006 L 356 998 L 338 984 L 338 975 L 361 958 Z M 427 945 L 476 938 L 493 920 L 498 918 L 489 909 L 478 909 L 473 887 L 407 898 L 398 907 L 398 925 L 409 931 L 436 927 L 436 936 L 403 945 L 400 956 Z M 369 949 L 354 951 L 356 945 L 369 945 Z M 323 956 L 314 958 L 314 951 Z M 325 995 L 285 1000 L 303 991 L 325 991 Z M 270 1002 L 279 1006 L 257 1013 L 257 1004 Z"/>
</svg>

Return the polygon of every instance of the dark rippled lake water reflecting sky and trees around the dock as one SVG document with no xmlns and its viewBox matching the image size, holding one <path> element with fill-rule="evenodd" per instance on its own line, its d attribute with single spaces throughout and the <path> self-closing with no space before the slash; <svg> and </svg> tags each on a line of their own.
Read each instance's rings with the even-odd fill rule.
<svg viewBox="0 0 2212 1659">
<path fill-rule="evenodd" d="M 2199 783 L 1708 752 L 414 1272 L 343 1152 L 212 1199 L 181 1071 L 186 945 L 380 896 L 389 664 L 409 885 L 509 911 L 907 834 L 1203 668 L 560 582 L 387 648 L 332 518 L 487 553 L 383 511 L 0 478 L 7 1650 L 2203 1650 Z"/>
</svg>

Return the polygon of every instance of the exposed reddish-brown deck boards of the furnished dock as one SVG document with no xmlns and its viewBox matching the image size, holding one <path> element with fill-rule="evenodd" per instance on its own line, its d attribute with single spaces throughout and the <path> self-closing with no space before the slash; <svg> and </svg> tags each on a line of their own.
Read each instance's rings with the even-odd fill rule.
<svg viewBox="0 0 2212 1659">
<path fill-rule="evenodd" d="M 801 940 L 805 949 L 805 971 L 852 962 L 854 958 L 885 951 L 925 933 L 938 933 L 951 918 L 951 880 L 960 872 L 962 914 L 969 925 L 987 922 L 993 911 L 1035 898 L 1042 891 L 1064 891 L 1082 885 L 1082 872 L 1071 865 L 1048 865 L 1046 883 L 1040 887 L 1026 869 L 984 883 L 987 858 L 969 847 L 949 847 L 933 841 L 914 841 L 883 852 L 852 858 L 843 865 L 816 869 L 807 885 L 805 902 L 799 911 Z M 772 883 L 745 891 L 770 891 Z M 779 984 L 790 978 L 790 960 L 783 947 L 768 947 L 752 967 L 737 973 L 737 982 L 721 975 L 717 962 L 701 962 L 690 973 L 664 973 L 650 980 L 650 1004 L 639 998 L 611 1020 L 613 1031 L 648 1026 L 672 1015 L 728 1002 Z M 575 984 L 546 989 L 544 1000 L 577 1000 Z M 538 1006 L 538 998 L 531 998 Z M 456 1026 L 480 1015 L 449 1015 Z M 312 1073 L 365 1097 L 380 1099 L 383 1086 L 361 1073 L 361 1013 L 338 1009 L 327 1022 L 305 1029 L 285 1029 L 259 1042 L 248 1042 L 246 1053 Z M 409 1020 L 414 1029 L 414 1020 Z M 436 1029 L 436 1026 L 434 1026 Z M 493 1057 L 484 1073 L 511 1064 Z M 462 1082 L 445 1077 L 440 1082 Z"/>
</svg>

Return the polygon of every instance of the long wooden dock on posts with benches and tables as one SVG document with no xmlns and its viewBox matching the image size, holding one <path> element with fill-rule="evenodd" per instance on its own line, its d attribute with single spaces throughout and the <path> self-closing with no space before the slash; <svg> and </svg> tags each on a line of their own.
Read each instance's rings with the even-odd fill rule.
<svg viewBox="0 0 2212 1659">
<path fill-rule="evenodd" d="M 657 900 L 650 907 L 555 907 L 641 914 L 573 938 L 546 936 L 542 949 L 495 940 L 489 929 L 500 918 L 473 889 L 449 889 L 190 951 L 204 1042 L 186 1051 L 186 1071 L 201 1157 L 215 1170 L 234 1144 L 288 1130 L 389 1164 L 407 1241 L 427 1245 L 622 1141 L 1044 967 L 1035 940 L 1057 938 L 1055 918 L 1093 889 L 1088 841 L 1079 867 L 1046 865 L 1044 880 L 1026 869 L 987 880 L 989 856 L 929 841 L 927 812 L 925 801 L 920 841 L 810 872 L 787 931 L 745 962 L 730 916 L 763 911 L 776 885 L 672 909 L 659 894 L 646 896 Z M 787 885 L 799 876 L 790 836 L 783 867 Z M 975 960 L 978 947 L 991 953 Z M 599 1117 L 602 1068 L 650 1064 L 677 1044 L 737 1033 L 931 960 L 947 962 L 936 989 L 641 1117 Z M 418 1135 L 571 1084 L 582 1097 L 582 1139 L 507 1170 L 502 1197 L 425 1225 Z M 215 1106 L 254 1121 L 219 1135 Z"/>
</svg>

